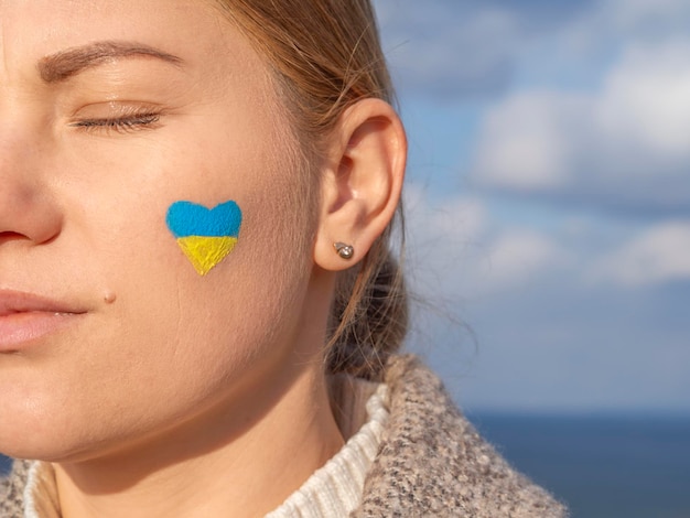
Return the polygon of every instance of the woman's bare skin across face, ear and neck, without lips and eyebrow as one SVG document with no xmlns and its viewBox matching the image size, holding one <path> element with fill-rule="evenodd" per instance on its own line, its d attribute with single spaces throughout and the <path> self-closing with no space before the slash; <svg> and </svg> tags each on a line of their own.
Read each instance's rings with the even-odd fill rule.
<svg viewBox="0 0 690 518">
<path fill-rule="evenodd" d="M 41 77 L 103 41 L 179 60 Z M 79 313 L 0 353 L 0 451 L 54 464 L 64 517 L 262 515 L 342 446 L 321 358 L 352 262 L 332 244 L 359 260 L 388 224 L 405 134 L 382 101 L 344 114 L 308 217 L 283 110 L 206 3 L 0 0 L 0 293 Z M 179 199 L 242 209 L 204 278 L 165 227 Z"/>
</svg>

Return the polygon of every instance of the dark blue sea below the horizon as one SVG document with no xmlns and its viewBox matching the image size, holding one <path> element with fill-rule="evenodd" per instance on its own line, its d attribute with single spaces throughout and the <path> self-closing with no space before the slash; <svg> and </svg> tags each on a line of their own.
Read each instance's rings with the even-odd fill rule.
<svg viewBox="0 0 690 518">
<path fill-rule="evenodd" d="M 690 416 L 468 418 L 573 518 L 690 518 Z M 0 471 L 9 465 L 0 456 Z"/>
</svg>

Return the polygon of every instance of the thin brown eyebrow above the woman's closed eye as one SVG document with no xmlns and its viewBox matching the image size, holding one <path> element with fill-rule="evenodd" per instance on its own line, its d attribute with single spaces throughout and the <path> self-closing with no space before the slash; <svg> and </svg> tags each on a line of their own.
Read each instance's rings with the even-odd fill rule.
<svg viewBox="0 0 690 518">
<path fill-rule="evenodd" d="M 173 65 L 182 64 L 180 57 L 149 45 L 122 41 L 104 41 L 67 48 L 42 57 L 37 67 L 39 74 L 45 83 L 61 83 L 87 68 L 93 68 L 120 57 L 153 57 Z"/>
</svg>

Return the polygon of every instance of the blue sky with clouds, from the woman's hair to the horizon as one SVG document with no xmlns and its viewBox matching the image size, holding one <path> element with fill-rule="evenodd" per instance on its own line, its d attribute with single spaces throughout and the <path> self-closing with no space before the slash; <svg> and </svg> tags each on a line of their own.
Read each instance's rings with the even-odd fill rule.
<svg viewBox="0 0 690 518">
<path fill-rule="evenodd" d="M 690 412 L 690 2 L 374 2 L 411 348 L 470 409 Z"/>
</svg>

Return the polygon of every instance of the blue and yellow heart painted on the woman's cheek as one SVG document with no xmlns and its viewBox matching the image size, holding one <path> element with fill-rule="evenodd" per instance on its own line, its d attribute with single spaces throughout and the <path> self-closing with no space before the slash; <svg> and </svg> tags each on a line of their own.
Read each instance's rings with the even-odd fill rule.
<svg viewBox="0 0 690 518">
<path fill-rule="evenodd" d="M 194 269 L 205 276 L 235 248 L 242 212 L 233 201 L 213 208 L 175 202 L 168 209 L 165 223 Z"/>
</svg>

